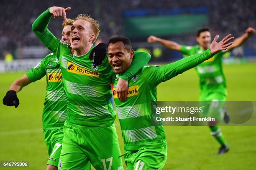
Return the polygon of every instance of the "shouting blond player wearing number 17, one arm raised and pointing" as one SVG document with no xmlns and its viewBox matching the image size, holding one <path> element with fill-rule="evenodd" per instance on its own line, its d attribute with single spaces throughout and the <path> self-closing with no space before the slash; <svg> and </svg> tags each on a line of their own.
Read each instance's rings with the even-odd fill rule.
<svg viewBox="0 0 256 170">
<path fill-rule="evenodd" d="M 99 65 L 90 59 L 92 44 L 99 35 L 99 23 L 88 15 L 80 14 L 71 28 L 71 47 L 54 37 L 47 26 L 52 15 L 63 16 L 70 7 L 50 7 L 33 23 L 36 36 L 59 58 L 63 74 L 64 91 L 67 96 L 67 120 L 59 161 L 61 170 L 85 170 L 91 163 L 98 170 L 121 170 L 118 158 L 120 148 L 114 120 L 115 112 L 110 103 L 110 82 L 113 70 L 105 57 Z M 97 53 L 97 51 L 96 51 Z M 96 56 L 97 57 L 97 56 Z M 144 52 L 137 52 L 131 67 L 120 76 L 118 96 L 127 97 L 128 80 L 150 60 Z M 121 82 L 121 83 L 120 83 Z"/>
</svg>

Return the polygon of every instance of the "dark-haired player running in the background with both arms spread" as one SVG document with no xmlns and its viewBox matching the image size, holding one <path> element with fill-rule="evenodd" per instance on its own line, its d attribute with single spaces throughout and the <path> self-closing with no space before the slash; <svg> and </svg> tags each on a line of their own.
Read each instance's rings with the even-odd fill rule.
<svg viewBox="0 0 256 170">
<path fill-rule="evenodd" d="M 197 74 L 200 78 L 200 101 L 215 101 L 208 105 L 204 109 L 205 115 L 212 116 L 221 121 L 224 117 L 225 108 L 223 108 L 224 102 L 227 97 L 226 80 L 222 69 L 222 57 L 227 51 L 242 45 L 248 37 L 253 35 L 255 30 L 253 28 L 247 28 L 246 33 L 241 37 L 234 40 L 233 45 L 228 47 L 228 50 L 218 52 L 209 60 L 198 65 L 196 68 Z M 186 46 L 179 45 L 177 42 L 164 40 L 155 36 L 149 36 L 148 42 L 159 42 L 165 47 L 171 50 L 182 52 L 186 57 L 188 55 L 197 54 L 207 50 L 210 47 L 211 34 L 208 28 L 200 28 L 197 30 L 197 42 L 199 45 Z M 213 107 L 214 105 L 214 107 Z M 229 117 L 227 117 L 229 119 Z M 217 122 L 210 122 L 209 124 L 211 135 L 220 143 L 221 147 L 217 154 L 225 153 L 229 150 L 227 142 L 225 141 Z"/>
</svg>

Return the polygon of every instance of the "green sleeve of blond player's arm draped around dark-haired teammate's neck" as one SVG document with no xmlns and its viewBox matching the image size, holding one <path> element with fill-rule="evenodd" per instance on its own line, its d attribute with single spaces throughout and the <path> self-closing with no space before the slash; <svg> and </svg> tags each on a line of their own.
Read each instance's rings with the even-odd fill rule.
<svg viewBox="0 0 256 170">
<path fill-rule="evenodd" d="M 123 80 L 129 81 L 134 77 L 143 66 L 145 66 L 151 59 L 151 55 L 146 52 L 134 51 L 133 61 L 131 66 L 120 75 Z"/>
</svg>

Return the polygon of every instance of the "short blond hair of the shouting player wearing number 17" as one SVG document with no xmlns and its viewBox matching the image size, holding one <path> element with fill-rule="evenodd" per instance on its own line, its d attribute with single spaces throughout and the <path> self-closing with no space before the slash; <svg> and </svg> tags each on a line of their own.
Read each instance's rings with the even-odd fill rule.
<svg viewBox="0 0 256 170">
<path fill-rule="evenodd" d="M 86 15 L 86 14 L 77 15 L 75 20 L 85 20 L 85 21 L 89 22 L 92 25 L 92 31 L 95 34 L 95 39 L 92 41 L 92 43 L 94 43 L 96 41 L 98 35 L 100 34 L 100 24 L 99 24 L 99 22 L 97 20 L 95 20 L 94 18 L 91 18 L 90 15 Z"/>
</svg>

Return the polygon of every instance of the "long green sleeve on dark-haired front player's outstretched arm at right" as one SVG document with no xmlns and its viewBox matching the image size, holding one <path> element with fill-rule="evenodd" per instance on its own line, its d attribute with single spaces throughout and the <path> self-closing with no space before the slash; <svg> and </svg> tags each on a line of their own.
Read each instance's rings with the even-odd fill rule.
<svg viewBox="0 0 256 170">
<path fill-rule="evenodd" d="M 148 83 L 156 86 L 160 82 L 169 80 L 172 77 L 182 74 L 184 71 L 187 71 L 199 65 L 200 63 L 208 60 L 212 56 L 213 55 L 211 54 L 210 49 L 208 49 L 200 54 L 185 57 L 168 65 L 160 67 L 147 67 L 143 70 L 143 75 Z"/>
</svg>

